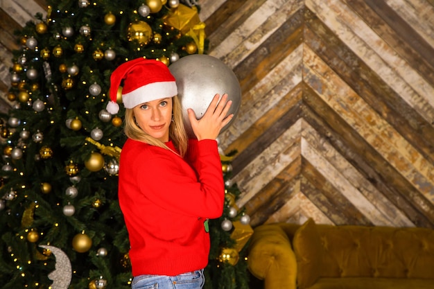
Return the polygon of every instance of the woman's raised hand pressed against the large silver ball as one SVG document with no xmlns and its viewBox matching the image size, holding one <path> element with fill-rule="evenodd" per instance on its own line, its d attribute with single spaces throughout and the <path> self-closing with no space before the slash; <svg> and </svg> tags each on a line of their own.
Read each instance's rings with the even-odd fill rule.
<svg viewBox="0 0 434 289">
<path fill-rule="evenodd" d="M 202 139 L 217 139 L 220 130 L 231 121 L 234 114 L 229 114 L 229 108 L 232 105 L 232 100 L 227 101 L 227 94 L 223 94 L 220 101 L 220 94 L 216 94 L 209 104 L 207 111 L 201 119 L 196 119 L 196 114 L 191 108 L 187 110 L 191 128 L 198 140 Z"/>
</svg>

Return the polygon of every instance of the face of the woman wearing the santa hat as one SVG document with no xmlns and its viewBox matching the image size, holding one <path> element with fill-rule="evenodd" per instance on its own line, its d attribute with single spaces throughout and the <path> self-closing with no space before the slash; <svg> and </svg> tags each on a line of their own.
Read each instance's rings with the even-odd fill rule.
<svg viewBox="0 0 434 289">
<path fill-rule="evenodd" d="M 172 98 L 161 98 L 141 103 L 132 110 L 139 128 L 160 141 L 168 141 L 168 128 L 172 121 Z"/>
</svg>

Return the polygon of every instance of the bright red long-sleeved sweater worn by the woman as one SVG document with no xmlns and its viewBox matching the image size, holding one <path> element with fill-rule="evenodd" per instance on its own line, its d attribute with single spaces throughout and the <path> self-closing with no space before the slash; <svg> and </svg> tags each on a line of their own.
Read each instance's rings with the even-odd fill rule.
<svg viewBox="0 0 434 289">
<path fill-rule="evenodd" d="M 166 145 L 175 150 L 173 143 Z M 119 204 L 133 276 L 175 276 L 205 268 L 207 218 L 223 213 L 225 185 L 214 140 L 190 140 L 184 157 L 128 139 L 119 165 Z"/>
</svg>

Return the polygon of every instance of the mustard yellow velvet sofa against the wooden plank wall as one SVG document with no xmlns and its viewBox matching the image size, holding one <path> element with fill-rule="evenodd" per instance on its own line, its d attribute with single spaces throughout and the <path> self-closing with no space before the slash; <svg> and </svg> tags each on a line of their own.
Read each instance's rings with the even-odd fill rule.
<svg viewBox="0 0 434 289">
<path fill-rule="evenodd" d="M 434 289 L 434 230 L 261 225 L 248 268 L 265 289 Z"/>
</svg>

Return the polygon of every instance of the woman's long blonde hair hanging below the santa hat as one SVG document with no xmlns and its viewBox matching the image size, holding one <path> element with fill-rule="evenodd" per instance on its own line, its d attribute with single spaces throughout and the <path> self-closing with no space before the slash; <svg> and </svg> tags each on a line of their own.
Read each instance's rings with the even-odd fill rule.
<svg viewBox="0 0 434 289">
<path fill-rule="evenodd" d="M 169 139 L 173 141 L 173 145 L 175 146 L 175 148 L 180 151 L 181 157 L 184 157 L 189 139 L 184 128 L 181 101 L 177 96 L 173 96 L 172 105 L 173 121 L 168 128 Z M 169 148 L 164 142 L 160 141 L 159 139 L 155 139 L 154 137 L 151 137 L 149 134 L 139 128 L 134 119 L 134 112 L 132 108 L 125 109 L 124 132 L 130 139 L 134 139 L 135 141 L 142 141 L 144 143 L 150 144 L 151 146 L 158 146 L 160 148 L 165 148 L 166 150 L 169 150 Z"/>
</svg>

